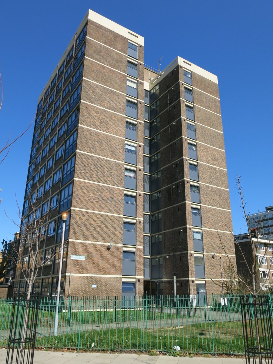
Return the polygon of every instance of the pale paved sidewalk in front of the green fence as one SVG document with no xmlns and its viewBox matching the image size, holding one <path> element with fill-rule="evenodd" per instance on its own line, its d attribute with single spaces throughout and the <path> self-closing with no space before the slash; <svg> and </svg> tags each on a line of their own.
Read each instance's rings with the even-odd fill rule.
<svg viewBox="0 0 273 364">
<path fill-rule="evenodd" d="M 7 349 L 0 349 L 0 364 L 6 363 Z M 10 361 L 9 361 L 10 363 Z M 78 353 L 35 351 L 33 364 L 243 364 L 245 359 L 232 357 L 174 357 L 131 353 Z"/>
</svg>

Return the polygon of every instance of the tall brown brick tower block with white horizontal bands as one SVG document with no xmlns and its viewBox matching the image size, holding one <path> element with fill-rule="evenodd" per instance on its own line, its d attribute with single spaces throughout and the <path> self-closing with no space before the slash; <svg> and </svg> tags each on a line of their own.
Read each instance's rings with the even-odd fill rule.
<svg viewBox="0 0 273 364">
<path fill-rule="evenodd" d="M 39 97 L 23 214 L 33 193 L 50 210 L 43 258 L 69 211 L 65 295 L 218 292 L 219 234 L 235 262 L 217 76 L 143 62 L 142 36 L 89 10 Z M 33 292 L 58 272 L 59 253 Z"/>
</svg>

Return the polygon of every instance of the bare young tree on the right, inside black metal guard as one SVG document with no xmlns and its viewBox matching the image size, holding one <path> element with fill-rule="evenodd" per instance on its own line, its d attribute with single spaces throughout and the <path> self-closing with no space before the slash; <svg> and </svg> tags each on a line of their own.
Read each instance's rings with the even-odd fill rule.
<svg viewBox="0 0 273 364">
<path fill-rule="evenodd" d="M 250 228 L 249 220 L 248 220 L 249 214 L 246 213 L 246 201 L 245 201 L 245 197 L 244 197 L 244 194 L 242 191 L 242 179 L 239 175 L 237 175 L 237 177 L 236 177 L 236 186 L 237 186 L 236 188 L 238 190 L 238 193 L 240 195 L 240 205 L 239 206 L 242 209 L 243 218 L 246 223 L 246 228 L 247 228 L 247 232 L 248 232 L 247 236 L 249 238 L 249 244 L 247 245 L 247 249 L 246 249 L 247 252 L 246 252 L 246 250 L 242 249 L 240 240 L 238 240 L 234 236 L 230 227 L 228 225 L 226 225 L 224 221 L 223 221 L 223 223 L 225 224 L 225 226 L 227 227 L 229 232 L 232 233 L 232 235 L 233 235 L 234 243 L 235 243 L 236 247 L 238 248 L 238 251 L 240 252 L 240 256 L 243 259 L 243 264 L 244 264 L 245 270 L 246 270 L 245 275 L 242 276 L 241 274 L 238 274 L 237 270 L 234 269 L 231 258 L 225 248 L 225 244 L 223 243 L 223 239 L 222 239 L 221 235 L 219 234 L 219 232 L 218 232 L 218 236 L 219 236 L 219 240 L 220 240 L 222 249 L 227 256 L 230 266 L 233 267 L 233 272 L 236 275 L 238 282 L 240 282 L 245 287 L 245 289 L 247 290 L 248 293 L 251 293 L 254 296 L 256 296 L 256 294 L 260 293 L 261 290 L 265 289 L 267 277 L 265 277 L 265 279 L 261 281 L 260 268 L 261 268 L 262 262 L 266 256 L 266 253 L 269 250 L 265 249 L 264 254 L 262 256 L 261 255 L 259 256 L 260 261 L 258 261 L 257 252 L 259 250 L 259 237 L 260 237 L 259 229 L 261 227 L 261 224 L 260 224 L 261 219 L 258 219 L 258 228 L 257 227 L 255 229 Z M 268 239 L 268 244 L 269 244 L 269 242 L 270 242 L 270 238 Z M 272 262 L 273 262 L 273 251 L 271 253 L 270 266 L 268 268 L 268 271 L 270 271 L 270 269 L 272 267 Z M 260 353 L 261 345 L 260 345 L 259 328 L 258 328 L 258 315 L 257 315 L 257 308 L 255 305 L 254 305 L 254 320 L 255 320 L 257 348 L 258 348 L 258 352 Z M 259 363 L 262 364 L 261 354 L 258 354 L 258 357 L 259 357 Z"/>
</svg>

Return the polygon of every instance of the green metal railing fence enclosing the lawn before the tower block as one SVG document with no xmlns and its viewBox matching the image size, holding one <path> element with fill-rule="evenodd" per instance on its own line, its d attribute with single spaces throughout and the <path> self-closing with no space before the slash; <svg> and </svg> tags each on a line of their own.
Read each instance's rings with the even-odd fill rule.
<svg viewBox="0 0 273 364">
<path fill-rule="evenodd" d="M 179 346 L 191 353 L 244 354 L 240 297 L 225 298 L 213 295 L 197 306 L 195 296 L 64 297 L 54 336 L 56 301 L 42 297 L 36 347 L 171 352 Z M 12 307 L 12 300 L 0 300 L 2 346 Z"/>
</svg>

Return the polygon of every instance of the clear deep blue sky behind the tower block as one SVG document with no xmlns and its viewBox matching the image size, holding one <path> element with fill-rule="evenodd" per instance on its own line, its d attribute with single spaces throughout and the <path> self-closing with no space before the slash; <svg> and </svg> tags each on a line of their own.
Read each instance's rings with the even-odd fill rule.
<svg viewBox="0 0 273 364">
<path fill-rule="evenodd" d="M 273 204 L 273 2 L 1 1 L 0 147 L 33 119 L 37 98 L 88 8 L 144 36 L 145 64 L 156 68 L 163 57 L 163 69 L 179 55 L 218 76 L 233 230 L 244 232 L 237 173 L 248 212 Z M 4 210 L 17 219 L 15 194 L 23 205 L 32 132 L 33 126 L 0 165 L 0 239 L 16 231 Z"/>
</svg>

